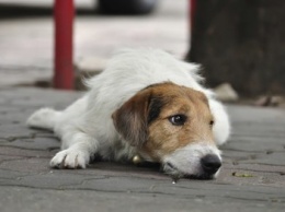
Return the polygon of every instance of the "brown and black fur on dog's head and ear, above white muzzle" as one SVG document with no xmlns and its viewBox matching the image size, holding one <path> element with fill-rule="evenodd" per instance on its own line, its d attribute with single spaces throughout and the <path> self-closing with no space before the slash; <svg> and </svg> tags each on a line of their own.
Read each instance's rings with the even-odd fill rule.
<svg viewBox="0 0 285 212">
<path fill-rule="evenodd" d="M 169 119 L 174 115 L 184 115 L 184 125 L 172 125 Z M 114 113 L 113 119 L 126 141 L 158 162 L 190 143 L 214 143 L 206 96 L 169 82 L 138 92 Z"/>
</svg>

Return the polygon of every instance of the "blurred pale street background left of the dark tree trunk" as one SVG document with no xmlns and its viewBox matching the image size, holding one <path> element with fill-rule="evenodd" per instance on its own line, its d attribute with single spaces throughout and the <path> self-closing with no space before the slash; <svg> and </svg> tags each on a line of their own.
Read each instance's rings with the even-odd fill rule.
<svg viewBox="0 0 285 212">
<path fill-rule="evenodd" d="M 142 14 L 112 15 L 100 10 L 98 0 L 75 0 L 76 67 L 101 70 L 122 47 L 156 47 L 183 58 L 190 35 L 187 0 L 153 2 Z M 151 0 L 146 3 L 151 5 Z M 0 84 L 30 84 L 52 78 L 53 5 L 53 0 L 0 0 Z"/>
</svg>

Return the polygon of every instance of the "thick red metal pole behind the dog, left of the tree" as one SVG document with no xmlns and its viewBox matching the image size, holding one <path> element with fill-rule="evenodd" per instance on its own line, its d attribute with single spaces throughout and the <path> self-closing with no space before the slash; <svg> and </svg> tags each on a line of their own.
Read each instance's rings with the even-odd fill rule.
<svg viewBox="0 0 285 212">
<path fill-rule="evenodd" d="M 73 0 L 55 0 L 55 89 L 73 89 Z"/>
</svg>

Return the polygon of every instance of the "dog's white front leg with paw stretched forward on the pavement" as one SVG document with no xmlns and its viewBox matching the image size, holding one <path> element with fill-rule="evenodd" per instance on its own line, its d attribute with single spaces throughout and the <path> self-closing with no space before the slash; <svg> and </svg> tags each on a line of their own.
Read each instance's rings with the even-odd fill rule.
<svg viewBox="0 0 285 212">
<path fill-rule="evenodd" d="M 68 132 L 61 138 L 62 150 L 50 161 L 54 168 L 86 168 L 98 151 L 99 142 L 83 132 Z"/>
</svg>

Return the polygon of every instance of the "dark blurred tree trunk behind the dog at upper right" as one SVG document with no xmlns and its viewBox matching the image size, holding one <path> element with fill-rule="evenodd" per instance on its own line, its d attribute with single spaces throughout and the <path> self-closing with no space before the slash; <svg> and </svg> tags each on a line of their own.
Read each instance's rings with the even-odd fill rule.
<svg viewBox="0 0 285 212">
<path fill-rule="evenodd" d="M 285 1 L 196 0 L 186 59 L 240 94 L 285 92 Z"/>
</svg>

